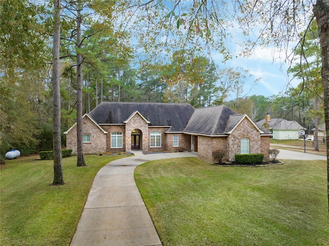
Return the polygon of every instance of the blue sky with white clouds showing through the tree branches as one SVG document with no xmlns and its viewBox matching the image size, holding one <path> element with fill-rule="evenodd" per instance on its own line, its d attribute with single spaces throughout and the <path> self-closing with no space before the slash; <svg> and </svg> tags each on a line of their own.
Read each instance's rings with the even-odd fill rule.
<svg viewBox="0 0 329 246">
<path fill-rule="evenodd" d="M 188 1 L 187 1 L 188 2 Z M 168 5 L 168 11 L 172 9 L 170 6 L 171 2 L 166 2 Z M 244 41 L 245 36 L 242 34 L 242 30 L 238 28 L 239 25 L 234 23 L 232 26 L 227 27 L 227 31 L 232 34 L 232 40 L 227 41 L 228 48 L 234 53 L 240 53 L 241 47 L 237 45 L 237 43 L 241 43 Z M 235 28 L 234 28 L 235 27 Z M 256 30 L 252 31 L 250 35 L 252 37 L 248 37 L 248 39 L 258 39 L 258 30 L 262 29 L 261 26 L 256 26 Z M 146 29 L 145 29 L 146 31 Z M 167 39 L 167 36 L 164 35 L 161 39 Z M 134 41 L 133 41 L 134 43 Z M 294 44 L 290 44 L 290 47 L 293 48 Z M 287 49 L 287 52 L 291 50 L 291 48 Z M 205 56 L 207 54 L 204 54 Z M 254 80 L 259 79 L 256 86 L 252 87 L 252 90 L 248 93 L 248 96 L 253 94 L 263 95 L 265 97 L 270 97 L 273 95 L 282 94 L 287 90 L 287 85 L 296 87 L 299 82 L 297 80 L 291 80 L 287 74 L 287 69 L 289 64 L 285 63 L 286 54 L 284 52 L 277 52 L 272 49 L 269 45 L 268 47 L 261 48 L 260 46 L 255 47 L 252 51 L 252 54 L 248 56 L 248 58 L 237 57 L 232 60 L 227 61 L 223 64 L 223 56 L 216 51 L 211 52 L 211 56 L 215 64 L 217 64 L 221 69 L 228 67 L 239 67 L 244 70 L 248 70 L 250 74 L 252 74 L 252 82 Z M 235 57 L 233 55 L 233 57 Z M 281 59 L 280 59 L 281 58 Z M 245 84 L 245 93 L 250 90 L 251 83 Z M 226 100 L 232 100 L 234 96 L 230 96 Z"/>
</svg>

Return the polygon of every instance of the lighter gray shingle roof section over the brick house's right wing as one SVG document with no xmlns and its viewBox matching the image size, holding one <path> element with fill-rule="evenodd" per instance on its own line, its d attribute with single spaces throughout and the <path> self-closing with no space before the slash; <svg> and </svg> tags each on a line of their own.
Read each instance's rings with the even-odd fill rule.
<svg viewBox="0 0 329 246">
<path fill-rule="evenodd" d="M 208 136 L 226 135 L 224 133 L 229 117 L 239 115 L 225 105 L 195 109 L 184 133 Z"/>
</svg>

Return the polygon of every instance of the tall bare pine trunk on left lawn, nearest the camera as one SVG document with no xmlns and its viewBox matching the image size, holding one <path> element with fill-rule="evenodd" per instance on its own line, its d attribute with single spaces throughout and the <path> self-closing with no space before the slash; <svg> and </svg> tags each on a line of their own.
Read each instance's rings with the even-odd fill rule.
<svg viewBox="0 0 329 246">
<path fill-rule="evenodd" d="M 61 94 L 60 94 L 60 0 L 54 1 L 54 32 L 52 47 L 52 142 L 53 185 L 64 184 L 61 142 Z"/>
</svg>

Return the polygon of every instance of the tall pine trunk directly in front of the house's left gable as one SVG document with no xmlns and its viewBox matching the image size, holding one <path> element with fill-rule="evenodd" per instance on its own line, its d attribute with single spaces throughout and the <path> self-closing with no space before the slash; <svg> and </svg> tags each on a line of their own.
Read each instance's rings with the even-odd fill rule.
<svg viewBox="0 0 329 246">
<path fill-rule="evenodd" d="M 77 7 L 77 166 L 85 166 L 82 140 L 82 55 L 81 48 L 81 10 Z"/>
</svg>

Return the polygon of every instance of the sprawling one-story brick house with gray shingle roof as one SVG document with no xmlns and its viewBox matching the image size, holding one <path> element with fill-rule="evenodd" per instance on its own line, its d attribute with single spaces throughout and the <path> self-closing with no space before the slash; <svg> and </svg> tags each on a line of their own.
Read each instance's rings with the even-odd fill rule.
<svg viewBox="0 0 329 246">
<path fill-rule="evenodd" d="M 213 163 L 212 152 L 225 149 L 228 161 L 235 154 L 269 158 L 269 131 L 225 105 L 102 102 L 82 121 L 84 154 L 193 151 Z M 76 129 L 75 124 L 64 133 L 72 154 L 77 154 Z"/>
</svg>

